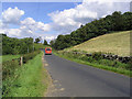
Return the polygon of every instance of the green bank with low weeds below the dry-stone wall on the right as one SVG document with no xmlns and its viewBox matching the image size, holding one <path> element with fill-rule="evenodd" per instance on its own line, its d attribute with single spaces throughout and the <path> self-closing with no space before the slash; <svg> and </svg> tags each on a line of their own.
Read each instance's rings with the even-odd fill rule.
<svg viewBox="0 0 132 99">
<path fill-rule="evenodd" d="M 84 65 L 88 65 L 88 66 L 92 66 L 92 67 L 97 67 L 97 68 L 101 68 L 101 69 L 106 69 L 106 70 L 110 70 L 110 72 L 114 72 L 118 74 L 123 74 L 125 76 L 132 77 L 132 72 L 125 68 L 127 66 L 129 66 L 129 64 L 123 64 L 120 62 L 116 62 L 114 64 L 114 62 L 108 61 L 108 59 L 94 61 L 92 58 L 88 59 L 85 56 L 64 54 L 62 52 L 54 52 L 54 54 L 59 57 L 63 57 L 63 58 L 66 58 L 66 59 L 69 59 L 69 61 L 73 61 L 79 64 L 84 64 Z"/>
</svg>

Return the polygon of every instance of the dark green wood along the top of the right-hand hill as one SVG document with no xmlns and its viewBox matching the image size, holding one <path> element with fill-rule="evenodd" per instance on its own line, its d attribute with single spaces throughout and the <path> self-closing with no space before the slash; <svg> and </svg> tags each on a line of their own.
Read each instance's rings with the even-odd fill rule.
<svg viewBox="0 0 132 99">
<path fill-rule="evenodd" d="M 132 30 L 132 12 L 122 14 L 120 11 L 116 11 L 111 15 L 80 25 L 79 29 L 70 34 L 61 34 L 56 40 L 51 41 L 50 44 L 55 50 L 64 50 L 99 35 L 128 30 Z"/>
</svg>

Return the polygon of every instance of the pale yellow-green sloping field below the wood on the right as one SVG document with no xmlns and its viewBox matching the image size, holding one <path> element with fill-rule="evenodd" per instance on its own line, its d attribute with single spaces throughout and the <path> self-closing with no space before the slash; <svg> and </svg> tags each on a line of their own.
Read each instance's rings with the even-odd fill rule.
<svg viewBox="0 0 132 99">
<path fill-rule="evenodd" d="M 130 56 L 130 34 L 132 34 L 132 31 L 105 34 L 74 47 L 66 48 L 66 51 L 80 50 L 88 53 L 103 52 L 120 56 Z"/>
</svg>

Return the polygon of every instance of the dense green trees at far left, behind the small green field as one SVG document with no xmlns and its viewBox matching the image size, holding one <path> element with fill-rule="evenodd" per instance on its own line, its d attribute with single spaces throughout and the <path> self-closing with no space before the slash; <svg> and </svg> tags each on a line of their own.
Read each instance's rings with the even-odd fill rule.
<svg viewBox="0 0 132 99">
<path fill-rule="evenodd" d="M 7 54 L 26 54 L 33 52 L 33 38 L 9 37 L 2 34 L 2 55 Z"/>
</svg>

